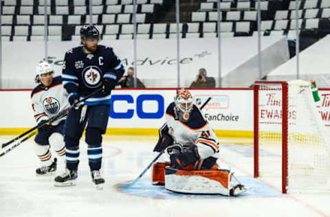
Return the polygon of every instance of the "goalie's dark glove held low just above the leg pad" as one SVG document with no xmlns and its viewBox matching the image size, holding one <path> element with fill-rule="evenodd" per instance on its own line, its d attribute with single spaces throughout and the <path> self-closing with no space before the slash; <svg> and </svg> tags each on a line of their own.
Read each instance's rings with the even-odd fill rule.
<svg viewBox="0 0 330 217">
<path fill-rule="evenodd" d="M 170 163 L 172 163 L 174 168 L 177 169 L 186 168 L 188 165 L 194 164 L 198 160 L 199 154 L 197 146 L 192 148 L 190 152 L 170 155 Z"/>
</svg>

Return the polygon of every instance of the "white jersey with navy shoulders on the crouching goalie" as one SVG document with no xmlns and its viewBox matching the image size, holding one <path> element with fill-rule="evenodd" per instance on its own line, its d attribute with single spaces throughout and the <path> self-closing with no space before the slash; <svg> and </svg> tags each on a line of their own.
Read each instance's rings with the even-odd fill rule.
<svg viewBox="0 0 330 217">
<path fill-rule="evenodd" d="M 166 124 L 168 133 L 175 143 L 197 146 L 201 159 L 219 157 L 219 141 L 214 131 L 203 118 L 201 111 L 193 105 L 188 122 L 175 119 L 175 103 L 172 102 L 166 109 Z"/>
</svg>

